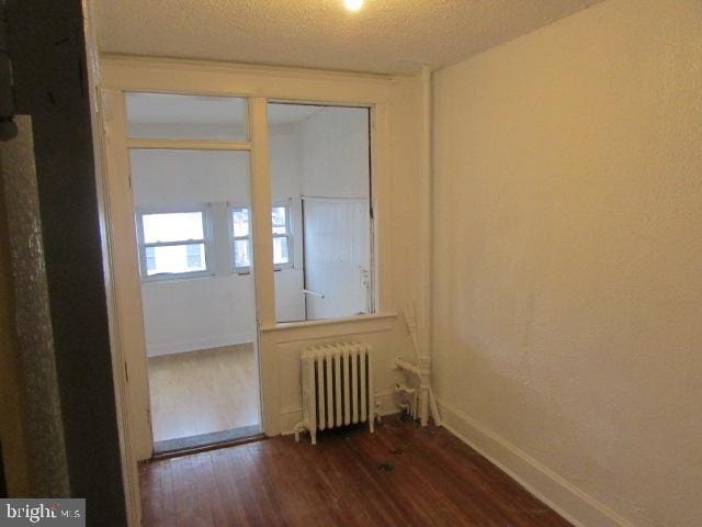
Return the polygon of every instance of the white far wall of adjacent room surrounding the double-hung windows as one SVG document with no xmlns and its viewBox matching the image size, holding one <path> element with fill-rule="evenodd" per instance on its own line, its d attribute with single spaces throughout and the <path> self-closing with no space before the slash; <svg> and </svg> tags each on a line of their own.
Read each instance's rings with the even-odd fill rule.
<svg viewBox="0 0 702 527">
<path fill-rule="evenodd" d="M 274 133 L 272 142 L 286 143 L 284 136 L 279 137 L 281 135 Z M 301 222 L 301 191 L 294 152 L 274 148 L 272 165 L 283 166 L 293 173 L 284 178 L 283 184 L 275 186 L 280 192 L 274 194 L 274 201 L 291 200 L 295 227 Z M 220 206 L 215 205 L 213 214 L 226 214 L 227 202 L 250 202 L 248 153 L 133 150 L 132 182 L 136 209 L 215 203 Z M 219 225 L 226 221 L 223 217 Z M 229 272 L 227 236 L 226 231 L 215 232 L 220 243 L 215 244 L 218 250 L 208 255 L 214 259 L 215 277 L 141 284 L 149 357 L 254 340 L 253 279 L 250 274 Z M 294 250 L 294 255 L 298 254 L 302 254 L 302 243 Z M 275 272 L 282 321 L 304 317 L 302 280 L 302 269 Z"/>
</svg>

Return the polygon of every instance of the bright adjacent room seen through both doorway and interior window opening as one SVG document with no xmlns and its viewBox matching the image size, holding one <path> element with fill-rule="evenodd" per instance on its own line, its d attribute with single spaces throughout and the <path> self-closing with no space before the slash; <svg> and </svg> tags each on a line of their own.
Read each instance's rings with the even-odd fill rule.
<svg viewBox="0 0 702 527">
<path fill-rule="evenodd" d="M 248 139 L 246 100 L 125 104 L 154 452 L 256 436 L 249 154 L 217 149 Z M 271 102 L 268 127 L 276 322 L 372 313 L 370 109 Z"/>
</svg>

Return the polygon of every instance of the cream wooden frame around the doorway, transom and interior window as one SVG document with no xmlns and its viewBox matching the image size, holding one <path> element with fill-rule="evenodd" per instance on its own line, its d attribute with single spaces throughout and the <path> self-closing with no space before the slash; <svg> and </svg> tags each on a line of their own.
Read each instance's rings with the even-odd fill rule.
<svg viewBox="0 0 702 527">
<path fill-rule="evenodd" d="M 252 243 L 256 254 L 254 280 L 259 332 L 275 333 L 275 300 L 273 283 L 271 233 L 271 188 L 269 177 L 268 101 L 285 100 L 306 103 L 369 106 L 373 126 L 373 189 L 376 231 L 374 237 L 377 310 L 392 305 L 389 261 L 378 250 L 389 239 L 389 222 L 378 221 L 389 215 L 388 200 L 388 112 L 394 80 L 386 76 L 304 71 L 286 68 L 263 68 L 190 60 L 148 58 L 101 58 L 101 92 L 105 131 L 106 177 L 104 178 L 106 229 L 110 239 L 110 268 L 114 282 L 115 310 L 112 318 L 116 347 L 124 358 L 125 375 L 117 382 L 125 385 L 125 407 L 128 408 L 129 442 L 139 460 L 152 452 L 149 416 L 149 391 L 145 349 L 140 280 L 135 238 L 134 205 L 129 188 L 128 149 L 213 148 L 250 152 Z M 245 97 L 249 100 L 248 142 L 192 142 L 181 139 L 134 139 L 127 137 L 126 91 L 169 92 Z M 118 250 L 115 250 L 117 249 Z M 314 323 L 309 324 L 314 332 Z M 281 327 L 284 329 L 284 327 Z M 279 392 L 279 358 L 274 346 L 259 339 L 262 428 L 268 436 L 281 431 Z M 126 395 L 125 395 L 126 394 Z"/>
</svg>

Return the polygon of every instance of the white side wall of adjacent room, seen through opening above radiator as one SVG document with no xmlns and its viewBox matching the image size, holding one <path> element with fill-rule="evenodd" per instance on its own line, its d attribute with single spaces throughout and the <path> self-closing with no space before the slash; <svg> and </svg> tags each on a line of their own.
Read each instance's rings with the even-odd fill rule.
<svg viewBox="0 0 702 527">
<path fill-rule="evenodd" d="M 322 106 L 299 124 L 308 319 L 370 312 L 370 119 Z M 351 201 L 353 200 L 353 201 Z"/>
</svg>

